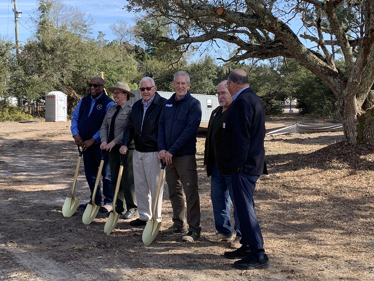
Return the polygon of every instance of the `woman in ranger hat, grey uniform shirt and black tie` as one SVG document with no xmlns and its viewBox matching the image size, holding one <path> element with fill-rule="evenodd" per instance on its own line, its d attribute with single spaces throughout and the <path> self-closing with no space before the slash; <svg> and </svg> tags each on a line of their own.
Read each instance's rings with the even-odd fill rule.
<svg viewBox="0 0 374 281">
<path fill-rule="evenodd" d="M 116 105 L 108 108 L 104 121 L 100 129 L 101 149 L 109 150 L 109 166 L 111 174 L 111 186 L 116 187 L 117 177 L 120 167 L 119 148 L 122 142 L 123 130 L 128 123 L 128 117 L 132 105 L 128 102 L 130 97 L 135 97 L 130 91 L 126 82 L 117 82 L 114 87 L 108 88 L 113 93 L 113 99 Z M 128 143 L 129 157 L 123 164 L 122 181 L 119 187 L 116 212 L 121 214 L 125 212 L 123 218 L 130 219 L 138 214 L 137 200 L 134 190 L 134 173 L 132 170 L 132 153 L 134 151 L 133 143 Z M 112 206 L 104 205 L 100 207 L 102 212 L 112 211 Z"/>
</svg>

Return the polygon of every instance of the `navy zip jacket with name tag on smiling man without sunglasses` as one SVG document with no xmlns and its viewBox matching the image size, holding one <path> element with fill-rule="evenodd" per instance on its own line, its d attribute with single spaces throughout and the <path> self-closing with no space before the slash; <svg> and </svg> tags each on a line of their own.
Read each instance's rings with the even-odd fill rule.
<svg viewBox="0 0 374 281">
<path fill-rule="evenodd" d="M 199 100 L 189 92 L 181 100 L 175 93 L 165 103 L 159 123 L 159 151 L 166 150 L 173 156 L 196 153 L 196 135 L 201 121 Z"/>
</svg>

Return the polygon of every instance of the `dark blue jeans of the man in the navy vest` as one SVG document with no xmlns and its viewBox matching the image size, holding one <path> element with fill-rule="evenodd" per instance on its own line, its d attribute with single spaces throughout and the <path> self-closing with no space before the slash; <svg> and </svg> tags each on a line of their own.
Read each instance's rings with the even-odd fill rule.
<svg viewBox="0 0 374 281">
<path fill-rule="evenodd" d="M 98 172 L 98 167 L 101 161 L 101 149 L 99 144 L 94 144 L 89 146 L 83 152 L 83 164 L 85 167 L 85 175 L 88 182 L 88 186 L 91 190 L 91 198 L 93 188 L 95 187 L 96 176 Z M 102 167 L 101 171 L 102 175 L 102 194 L 104 194 L 104 205 L 112 205 L 113 204 L 113 191 L 110 185 L 110 167 L 108 164 L 108 156 L 105 157 L 104 166 Z M 96 195 L 95 195 L 95 204 L 101 206 L 101 184 L 99 182 Z M 90 203 L 91 203 L 90 198 Z"/>
</svg>

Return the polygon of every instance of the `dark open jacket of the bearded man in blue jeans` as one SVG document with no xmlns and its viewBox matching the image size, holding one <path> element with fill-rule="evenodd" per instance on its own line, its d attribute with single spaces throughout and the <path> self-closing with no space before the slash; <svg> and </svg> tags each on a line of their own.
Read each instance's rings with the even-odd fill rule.
<svg viewBox="0 0 374 281">
<path fill-rule="evenodd" d="M 231 105 L 232 104 L 230 104 L 230 106 Z M 214 155 L 210 152 L 210 148 L 209 148 L 210 139 L 212 136 L 212 129 L 213 129 L 212 127 L 213 127 L 214 120 L 217 117 L 217 113 L 220 110 L 220 108 L 222 108 L 222 106 L 218 106 L 216 109 L 214 109 L 214 111 L 212 111 L 211 117 L 209 118 L 208 129 L 206 132 L 206 139 L 205 139 L 205 151 L 204 151 L 204 165 L 206 165 L 206 174 L 208 176 L 212 174 L 214 161 L 217 162 L 217 167 L 220 173 L 226 175 L 229 172 L 221 164 L 220 149 L 221 149 L 221 142 L 222 142 L 222 136 L 223 136 L 222 125 L 223 125 L 223 121 L 225 120 L 227 113 L 229 112 L 230 106 L 223 112 L 221 120 L 218 123 L 217 130 L 215 131 L 215 134 L 214 134 L 214 150 L 215 150 Z"/>
</svg>

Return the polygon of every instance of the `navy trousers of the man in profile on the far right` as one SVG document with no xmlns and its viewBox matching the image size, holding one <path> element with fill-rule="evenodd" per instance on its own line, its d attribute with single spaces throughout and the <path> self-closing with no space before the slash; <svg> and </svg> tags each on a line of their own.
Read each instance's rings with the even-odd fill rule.
<svg viewBox="0 0 374 281">
<path fill-rule="evenodd" d="M 256 181 L 260 176 L 249 175 L 245 172 L 231 174 L 232 188 L 237 216 L 239 218 L 242 248 L 249 251 L 249 255 L 256 261 L 264 259 L 264 239 L 260 224 L 254 211 L 253 194 Z"/>
</svg>

